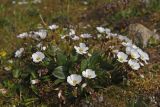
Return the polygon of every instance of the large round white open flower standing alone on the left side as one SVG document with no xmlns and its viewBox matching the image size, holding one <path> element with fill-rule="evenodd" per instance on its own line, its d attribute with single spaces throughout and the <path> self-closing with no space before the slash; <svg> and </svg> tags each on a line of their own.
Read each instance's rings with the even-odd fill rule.
<svg viewBox="0 0 160 107">
<path fill-rule="evenodd" d="M 41 62 L 45 58 L 45 55 L 42 52 L 36 52 L 32 54 L 33 62 Z"/>
</svg>

